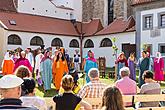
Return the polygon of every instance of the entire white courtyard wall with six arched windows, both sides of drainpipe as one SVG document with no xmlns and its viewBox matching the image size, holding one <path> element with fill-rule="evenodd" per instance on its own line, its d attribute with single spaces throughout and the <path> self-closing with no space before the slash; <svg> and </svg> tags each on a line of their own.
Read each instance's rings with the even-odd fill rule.
<svg viewBox="0 0 165 110">
<path fill-rule="evenodd" d="M 72 39 L 77 39 L 79 41 L 78 37 L 73 37 L 73 36 L 62 36 L 62 35 L 50 35 L 50 34 L 40 34 L 40 33 L 27 33 L 27 32 L 17 32 L 17 31 L 7 31 L 4 38 L 7 43 L 7 38 L 11 34 L 16 34 L 20 36 L 22 39 L 22 45 L 7 45 L 7 49 L 14 50 L 18 47 L 21 47 L 22 49 L 26 49 L 27 47 L 31 47 L 32 49 L 36 49 L 39 46 L 30 46 L 30 40 L 34 36 L 40 36 L 45 44 L 45 48 L 51 46 L 51 42 L 54 38 L 60 38 L 63 42 L 63 47 L 68 49 L 68 53 L 70 57 L 73 57 L 75 49 L 79 48 L 69 48 L 69 43 Z M 119 34 L 112 34 L 112 35 L 102 35 L 102 36 L 94 36 L 94 37 L 85 37 L 83 40 L 83 47 L 84 43 L 87 39 L 91 39 L 94 42 L 94 48 L 83 48 L 83 57 L 87 55 L 87 51 L 91 49 L 95 53 L 95 58 L 98 58 L 100 56 L 106 57 L 106 66 L 107 67 L 113 67 L 114 66 L 114 61 L 115 58 L 112 55 L 113 50 L 111 47 L 100 47 L 100 43 L 104 38 L 109 38 L 112 40 L 112 38 L 116 38 L 116 45 L 119 48 L 118 54 L 122 50 L 122 44 L 123 43 L 130 43 L 134 44 L 135 43 L 135 32 L 128 32 L 128 33 L 119 33 Z"/>
</svg>

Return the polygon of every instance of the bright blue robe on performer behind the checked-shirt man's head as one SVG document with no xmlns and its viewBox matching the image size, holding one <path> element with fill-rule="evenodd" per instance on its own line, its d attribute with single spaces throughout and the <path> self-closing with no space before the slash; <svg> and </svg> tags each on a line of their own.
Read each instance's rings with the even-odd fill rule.
<svg viewBox="0 0 165 110">
<path fill-rule="evenodd" d="M 86 63 L 85 63 L 85 66 L 84 66 L 84 71 L 86 73 L 86 83 L 90 82 L 88 72 L 91 68 L 98 68 L 97 63 L 86 59 Z"/>
</svg>

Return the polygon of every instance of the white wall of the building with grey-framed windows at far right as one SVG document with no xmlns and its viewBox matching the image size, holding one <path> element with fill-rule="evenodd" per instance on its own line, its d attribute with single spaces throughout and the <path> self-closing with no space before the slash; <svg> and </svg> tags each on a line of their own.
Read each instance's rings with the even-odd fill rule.
<svg viewBox="0 0 165 110">
<path fill-rule="evenodd" d="M 160 29 L 160 36 L 150 37 L 151 30 L 143 30 L 143 15 L 153 14 L 153 27 L 158 27 L 158 13 L 165 12 L 165 8 L 146 10 L 141 12 L 141 45 L 143 44 L 152 44 L 153 56 L 155 56 L 158 51 L 158 44 L 165 43 L 165 28 Z M 141 46 L 142 50 L 142 46 Z"/>
</svg>

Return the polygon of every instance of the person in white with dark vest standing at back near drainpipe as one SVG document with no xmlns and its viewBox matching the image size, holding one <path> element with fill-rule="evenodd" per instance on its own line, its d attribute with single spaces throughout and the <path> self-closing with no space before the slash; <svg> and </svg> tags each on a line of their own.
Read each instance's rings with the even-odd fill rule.
<svg viewBox="0 0 165 110">
<path fill-rule="evenodd" d="M 75 50 L 74 68 L 76 71 L 80 71 L 80 63 L 81 63 L 81 58 L 80 58 L 79 50 Z"/>
</svg>

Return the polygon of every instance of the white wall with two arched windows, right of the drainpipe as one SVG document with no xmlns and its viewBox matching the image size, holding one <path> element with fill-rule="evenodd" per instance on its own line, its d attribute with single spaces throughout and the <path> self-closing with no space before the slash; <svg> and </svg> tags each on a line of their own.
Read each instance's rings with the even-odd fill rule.
<svg viewBox="0 0 165 110">
<path fill-rule="evenodd" d="M 94 48 L 84 48 L 83 49 L 83 57 L 87 55 L 88 50 L 92 50 L 95 53 L 95 58 L 99 57 L 106 57 L 106 66 L 113 67 L 115 57 L 113 54 L 113 49 L 111 47 L 100 47 L 100 43 L 104 38 L 109 38 L 112 41 L 112 38 L 116 38 L 116 45 L 119 48 L 118 54 L 122 50 L 123 43 L 130 43 L 135 44 L 135 32 L 127 32 L 127 33 L 118 33 L 118 34 L 111 34 L 111 35 L 102 35 L 102 36 L 95 36 L 95 37 L 86 37 L 83 40 L 83 47 L 85 41 L 87 39 L 91 39 L 94 43 Z"/>
</svg>

